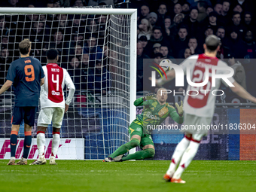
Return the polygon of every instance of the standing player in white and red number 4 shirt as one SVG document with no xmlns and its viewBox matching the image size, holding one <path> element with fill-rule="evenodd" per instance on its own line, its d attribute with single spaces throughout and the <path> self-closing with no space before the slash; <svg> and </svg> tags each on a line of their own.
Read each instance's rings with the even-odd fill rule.
<svg viewBox="0 0 256 192">
<path fill-rule="evenodd" d="M 59 59 L 58 51 L 55 49 L 47 50 L 47 66 L 43 66 L 44 85 L 41 86 L 40 103 L 41 111 L 38 116 L 38 160 L 30 165 L 42 165 L 46 163 L 44 157 L 45 131 L 50 123 L 53 123 L 53 142 L 50 164 L 56 165 L 55 157 L 59 148 L 59 131 L 62 125 L 64 113 L 68 111 L 69 104 L 75 93 L 75 85 L 66 69 L 56 64 Z M 64 87 L 69 89 L 69 96 L 65 101 Z"/>
</svg>

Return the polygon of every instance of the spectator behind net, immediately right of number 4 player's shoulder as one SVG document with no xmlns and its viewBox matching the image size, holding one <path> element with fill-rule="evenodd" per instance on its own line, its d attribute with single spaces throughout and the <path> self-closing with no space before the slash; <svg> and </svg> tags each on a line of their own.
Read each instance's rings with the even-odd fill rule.
<svg viewBox="0 0 256 192">
<path fill-rule="evenodd" d="M 75 90 L 87 89 L 87 69 L 81 67 L 81 61 L 78 57 L 72 57 L 67 68 L 72 81 L 75 84 Z"/>
</svg>

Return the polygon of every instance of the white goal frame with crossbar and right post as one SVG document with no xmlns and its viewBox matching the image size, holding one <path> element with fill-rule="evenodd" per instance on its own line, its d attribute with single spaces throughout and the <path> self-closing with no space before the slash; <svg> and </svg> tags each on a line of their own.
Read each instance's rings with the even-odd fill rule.
<svg viewBox="0 0 256 192">
<path fill-rule="evenodd" d="M 137 10 L 113 8 L 0 8 L 0 14 L 114 14 L 130 15 L 130 123 L 136 119 Z M 130 150 L 130 154 L 136 148 Z"/>
</svg>

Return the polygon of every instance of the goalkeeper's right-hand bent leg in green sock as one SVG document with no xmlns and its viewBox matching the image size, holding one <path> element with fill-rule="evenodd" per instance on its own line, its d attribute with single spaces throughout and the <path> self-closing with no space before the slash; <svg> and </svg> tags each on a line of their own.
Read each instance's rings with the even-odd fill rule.
<svg viewBox="0 0 256 192">
<path fill-rule="evenodd" d="M 151 136 L 146 134 L 142 136 L 141 139 L 141 148 L 142 151 L 137 151 L 134 154 L 129 154 L 126 157 L 122 157 L 122 161 L 124 160 L 144 160 L 147 158 L 154 157 L 154 143 L 151 139 Z"/>
</svg>

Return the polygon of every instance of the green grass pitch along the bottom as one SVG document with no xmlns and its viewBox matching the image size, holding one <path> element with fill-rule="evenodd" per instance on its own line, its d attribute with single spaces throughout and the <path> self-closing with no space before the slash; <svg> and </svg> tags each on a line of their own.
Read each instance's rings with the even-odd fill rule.
<svg viewBox="0 0 256 192">
<path fill-rule="evenodd" d="M 0 160 L 0 191 L 255 191 L 255 161 L 195 160 L 182 178 L 186 184 L 163 181 L 170 161 L 121 163 L 56 160 L 57 166 L 7 166 Z M 32 163 L 29 160 L 28 163 Z M 47 160 L 49 163 L 49 160 Z"/>
</svg>

